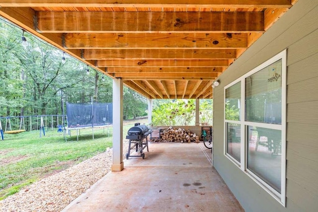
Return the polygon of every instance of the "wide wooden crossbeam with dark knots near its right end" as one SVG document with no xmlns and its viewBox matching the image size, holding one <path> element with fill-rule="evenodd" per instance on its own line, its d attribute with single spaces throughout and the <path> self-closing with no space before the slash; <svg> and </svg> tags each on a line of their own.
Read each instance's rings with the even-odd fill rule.
<svg viewBox="0 0 318 212">
<path fill-rule="evenodd" d="M 247 34 L 236 33 L 67 33 L 67 49 L 222 49 L 247 48 Z"/>
</svg>

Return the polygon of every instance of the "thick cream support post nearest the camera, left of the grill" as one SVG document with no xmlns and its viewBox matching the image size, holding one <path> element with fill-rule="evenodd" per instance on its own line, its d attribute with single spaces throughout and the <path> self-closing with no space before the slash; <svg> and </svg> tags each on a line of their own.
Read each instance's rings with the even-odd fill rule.
<svg viewBox="0 0 318 212">
<path fill-rule="evenodd" d="M 124 169 L 123 162 L 123 80 L 113 79 L 113 164 L 112 171 Z"/>
</svg>

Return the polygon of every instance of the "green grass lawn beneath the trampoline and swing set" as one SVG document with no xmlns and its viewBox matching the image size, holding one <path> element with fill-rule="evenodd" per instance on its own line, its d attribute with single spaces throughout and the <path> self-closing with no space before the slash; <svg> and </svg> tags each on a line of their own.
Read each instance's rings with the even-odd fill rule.
<svg viewBox="0 0 318 212">
<path fill-rule="evenodd" d="M 142 121 L 124 123 L 123 137 L 135 122 Z M 72 137 L 67 136 L 65 141 L 57 129 L 46 131 L 42 138 L 39 138 L 40 131 L 4 134 L 4 140 L 0 140 L 0 200 L 45 176 L 104 152 L 112 147 L 112 131 L 112 127 L 109 134 L 107 128 L 94 129 L 93 140 L 92 130 L 82 129 L 79 141 L 76 131 L 71 131 Z"/>
</svg>

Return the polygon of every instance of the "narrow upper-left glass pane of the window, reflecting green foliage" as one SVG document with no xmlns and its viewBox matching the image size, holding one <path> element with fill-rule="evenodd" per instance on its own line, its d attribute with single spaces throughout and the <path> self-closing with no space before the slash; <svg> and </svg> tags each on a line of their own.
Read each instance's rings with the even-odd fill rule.
<svg viewBox="0 0 318 212">
<path fill-rule="evenodd" d="M 225 119 L 239 121 L 240 81 L 225 90 Z"/>
</svg>

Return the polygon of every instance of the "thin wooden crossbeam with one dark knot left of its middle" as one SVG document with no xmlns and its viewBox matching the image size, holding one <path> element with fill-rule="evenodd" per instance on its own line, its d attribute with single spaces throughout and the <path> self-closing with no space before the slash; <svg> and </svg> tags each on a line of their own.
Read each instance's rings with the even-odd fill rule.
<svg viewBox="0 0 318 212">
<path fill-rule="evenodd" d="M 228 67 L 228 60 L 97 60 L 97 67 Z"/>
</svg>

